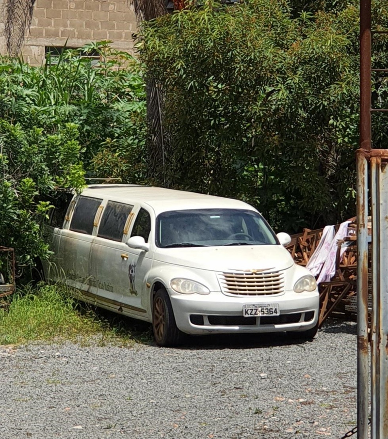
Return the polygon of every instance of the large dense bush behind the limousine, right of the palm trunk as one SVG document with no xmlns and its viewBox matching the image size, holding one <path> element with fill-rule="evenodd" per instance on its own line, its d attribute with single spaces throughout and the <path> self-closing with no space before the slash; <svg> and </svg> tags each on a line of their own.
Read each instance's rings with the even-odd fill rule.
<svg viewBox="0 0 388 439">
<path fill-rule="evenodd" d="M 356 3 L 204 3 L 142 30 L 165 93 L 167 181 L 245 199 L 290 232 L 353 216 Z"/>
</svg>

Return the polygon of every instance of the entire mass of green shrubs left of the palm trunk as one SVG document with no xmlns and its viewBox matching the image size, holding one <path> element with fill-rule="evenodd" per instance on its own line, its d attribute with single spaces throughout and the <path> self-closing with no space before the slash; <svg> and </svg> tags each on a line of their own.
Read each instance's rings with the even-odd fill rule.
<svg viewBox="0 0 388 439">
<path fill-rule="evenodd" d="M 40 67 L 0 58 L 0 245 L 15 247 L 19 274 L 47 256 L 42 219 L 85 172 L 144 180 L 145 112 L 139 62 L 108 42 Z"/>
</svg>

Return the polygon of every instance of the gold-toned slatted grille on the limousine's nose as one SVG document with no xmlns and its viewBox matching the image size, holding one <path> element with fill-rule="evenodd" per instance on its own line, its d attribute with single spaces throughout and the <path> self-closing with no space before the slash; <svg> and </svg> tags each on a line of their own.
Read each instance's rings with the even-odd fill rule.
<svg viewBox="0 0 388 439">
<path fill-rule="evenodd" d="M 284 292 L 282 271 L 219 273 L 221 290 L 232 296 L 270 296 Z"/>
</svg>

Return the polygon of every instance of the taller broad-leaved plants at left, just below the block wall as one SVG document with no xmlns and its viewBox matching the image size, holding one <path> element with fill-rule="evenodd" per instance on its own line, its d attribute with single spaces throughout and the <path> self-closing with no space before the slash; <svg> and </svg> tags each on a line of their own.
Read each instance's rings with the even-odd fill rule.
<svg viewBox="0 0 388 439">
<path fill-rule="evenodd" d="M 100 61 L 81 56 L 92 51 Z M 65 50 L 38 68 L 3 59 L 0 108 L 4 119 L 49 133 L 64 123 L 78 125 L 80 158 L 90 176 L 98 174 L 98 167 L 89 170 L 89 165 L 106 142 L 129 164 L 143 151 L 146 103 L 141 65 L 107 41 Z"/>
</svg>

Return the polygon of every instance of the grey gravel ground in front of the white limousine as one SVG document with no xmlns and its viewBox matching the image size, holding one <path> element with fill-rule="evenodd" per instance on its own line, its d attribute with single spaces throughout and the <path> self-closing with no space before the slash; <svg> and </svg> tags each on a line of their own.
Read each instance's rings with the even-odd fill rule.
<svg viewBox="0 0 388 439">
<path fill-rule="evenodd" d="M 1 439 L 338 439 L 356 425 L 353 322 L 302 344 L 0 346 L 0 374 Z"/>
</svg>

